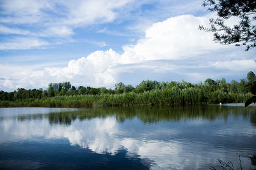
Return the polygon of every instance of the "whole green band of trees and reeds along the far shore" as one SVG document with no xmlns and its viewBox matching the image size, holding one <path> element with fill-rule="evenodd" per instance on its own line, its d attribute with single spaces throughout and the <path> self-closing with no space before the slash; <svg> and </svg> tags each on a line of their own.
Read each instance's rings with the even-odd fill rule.
<svg viewBox="0 0 256 170">
<path fill-rule="evenodd" d="M 240 103 L 252 97 L 251 71 L 240 82 L 207 78 L 203 83 L 143 80 L 136 87 L 116 83 L 115 89 L 72 86 L 70 82 L 49 83 L 47 90 L 0 91 L 0 106 L 84 107 L 96 105 L 158 105 L 196 103 Z M 249 80 L 249 81 L 248 81 Z"/>
</svg>

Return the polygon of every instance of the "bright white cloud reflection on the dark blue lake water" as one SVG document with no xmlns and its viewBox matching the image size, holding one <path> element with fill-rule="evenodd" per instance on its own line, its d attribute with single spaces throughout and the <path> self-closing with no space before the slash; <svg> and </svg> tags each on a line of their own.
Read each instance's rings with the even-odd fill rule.
<svg viewBox="0 0 256 170">
<path fill-rule="evenodd" d="M 24 114 L 23 116 L 29 118 L 35 117 L 35 114 Z M 188 146 L 161 139 L 147 139 L 145 136 L 144 138 L 134 138 L 134 134 L 129 133 L 129 131 L 124 131 L 124 129 L 120 131 L 120 124 L 113 117 L 104 119 L 93 118 L 90 121 L 83 122 L 75 120 L 69 126 L 51 126 L 45 119 L 47 116 L 44 116 L 39 122 L 36 120 L 17 122 L 15 118 L 17 118 L 17 115 L 6 118 L 1 122 L 0 129 L 3 131 L 0 134 L 4 138 L 1 138 L 0 143 L 17 139 L 28 140 L 33 139 L 35 136 L 41 136 L 45 139 L 66 138 L 70 145 L 79 145 L 81 148 L 88 148 L 100 154 L 110 153 L 111 155 L 115 155 L 118 151 L 125 149 L 127 150 L 127 157 L 138 155 L 141 159 L 149 159 L 150 162 L 154 162 L 152 166 L 155 168 L 168 166 L 178 168 L 186 166 L 184 165 L 184 157 L 180 159 L 180 156 Z M 172 136 L 168 130 L 170 129 L 162 129 L 161 132 L 167 132 L 167 136 Z M 143 132 L 138 133 L 139 136 L 144 135 Z M 156 136 L 156 133 L 157 131 L 152 129 L 151 135 Z M 193 146 L 195 150 L 200 150 L 202 147 L 200 145 Z"/>
</svg>

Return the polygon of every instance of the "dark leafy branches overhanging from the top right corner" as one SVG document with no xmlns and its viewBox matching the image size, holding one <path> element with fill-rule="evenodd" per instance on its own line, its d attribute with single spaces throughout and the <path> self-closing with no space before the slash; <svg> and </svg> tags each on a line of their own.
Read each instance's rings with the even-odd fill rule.
<svg viewBox="0 0 256 170">
<path fill-rule="evenodd" d="M 202 5 L 209 6 L 208 11 L 218 15 L 210 19 L 210 27 L 199 26 L 200 30 L 214 32 L 214 41 L 223 45 L 245 45 L 246 50 L 256 46 L 255 0 L 204 0 Z M 229 18 L 237 18 L 239 22 L 230 27 L 225 22 Z"/>
</svg>

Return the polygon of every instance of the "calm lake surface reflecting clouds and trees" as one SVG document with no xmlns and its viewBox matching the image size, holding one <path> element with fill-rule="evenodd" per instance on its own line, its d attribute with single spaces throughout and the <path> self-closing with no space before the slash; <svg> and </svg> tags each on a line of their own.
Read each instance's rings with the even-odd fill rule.
<svg viewBox="0 0 256 170">
<path fill-rule="evenodd" d="M 209 169 L 256 153 L 256 107 L 0 108 L 0 169 Z"/>
</svg>

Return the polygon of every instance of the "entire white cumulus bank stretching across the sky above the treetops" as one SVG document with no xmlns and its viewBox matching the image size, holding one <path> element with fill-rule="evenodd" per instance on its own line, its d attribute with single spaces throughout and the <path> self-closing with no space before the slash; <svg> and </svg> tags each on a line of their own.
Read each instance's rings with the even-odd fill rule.
<svg viewBox="0 0 256 170">
<path fill-rule="evenodd" d="M 165 76 L 164 81 L 184 79 L 195 82 L 223 75 L 244 77 L 246 72 L 255 69 L 252 51 L 218 45 L 212 41 L 212 34 L 198 30 L 198 25 L 205 25 L 208 20 L 207 17 L 193 15 L 171 17 L 148 27 L 145 37 L 134 45 L 124 46 L 123 53 L 112 49 L 96 51 L 87 57 L 70 60 L 66 67 L 31 69 L 19 73 L 5 73 L 3 70 L 1 77 L 16 81 L 1 80 L 1 87 L 6 89 L 8 84 L 12 84 L 13 88 L 20 85 L 34 87 L 36 84 L 44 84 L 45 87 L 51 81 L 113 87 L 118 81 L 127 81 L 129 76 L 132 82 L 127 83 L 134 83 L 136 78 L 138 81 L 145 78 L 158 80 L 161 74 Z M 44 45 L 44 41 L 34 39 L 34 42 L 34 46 Z M 32 47 L 24 45 L 23 48 Z"/>
</svg>

